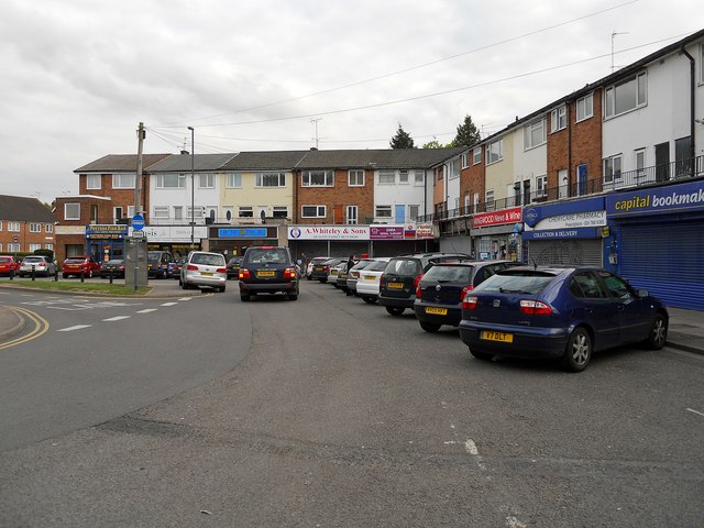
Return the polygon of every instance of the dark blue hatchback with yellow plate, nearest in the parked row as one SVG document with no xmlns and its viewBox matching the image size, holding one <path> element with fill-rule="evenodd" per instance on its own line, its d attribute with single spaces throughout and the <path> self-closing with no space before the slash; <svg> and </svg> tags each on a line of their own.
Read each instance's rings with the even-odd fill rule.
<svg viewBox="0 0 704 528">
<path fill-rule="evenodd" d="M 497 272 L 462 302 L 460 338 L 477 359 L 559 358 L 581 372 L 592 353 L 664 346 L 667 307 L 601 268 L 520 266 Z"/>
</svg>

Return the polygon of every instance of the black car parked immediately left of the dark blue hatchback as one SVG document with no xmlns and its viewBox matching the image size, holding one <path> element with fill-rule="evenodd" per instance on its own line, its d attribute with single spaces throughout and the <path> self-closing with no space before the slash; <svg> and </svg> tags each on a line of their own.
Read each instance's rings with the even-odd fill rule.
<svg viewBox="0 0 704 528">
<path fill-rule="evenodd" d="M 462 300 L 499 270 L 516 266 L 512 261 L 448 261 L 432 266 L 416 288 L 414 311 L 427 332 L 442 324 L 458 327 L 462 320 Z"/>
</svg>

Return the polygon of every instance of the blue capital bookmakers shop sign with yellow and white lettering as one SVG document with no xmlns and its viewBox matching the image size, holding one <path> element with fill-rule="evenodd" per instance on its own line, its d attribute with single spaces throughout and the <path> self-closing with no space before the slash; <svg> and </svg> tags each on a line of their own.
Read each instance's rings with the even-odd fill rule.
<svg viewBox="0 0 704 528">
<path fill-rule="evenodd" d="M 704 209 L 704 183 L 669 185 L 606 197 L 609 216 L 654 215 Z"/>
</svg>

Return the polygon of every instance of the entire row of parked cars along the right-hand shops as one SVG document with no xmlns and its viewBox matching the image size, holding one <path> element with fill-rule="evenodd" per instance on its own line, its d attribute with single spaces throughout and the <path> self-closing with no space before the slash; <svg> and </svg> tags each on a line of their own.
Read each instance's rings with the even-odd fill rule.
<svg viewBox="0 0 704 528">
<path fill-rule="evenodd" d="M 346 275 L 348 290 L 392 316 L 413 309 L 427 332 L 459 328 L 480 360 L 550 358 L 581 372 L 594 352 L 630 343 L 657 350 L 667 342 L 664 304 L 597 267 L 425 253 L 362 260 L 349 272 L 345 261 L 337 270 L 337 287 Z"/>
</svg>

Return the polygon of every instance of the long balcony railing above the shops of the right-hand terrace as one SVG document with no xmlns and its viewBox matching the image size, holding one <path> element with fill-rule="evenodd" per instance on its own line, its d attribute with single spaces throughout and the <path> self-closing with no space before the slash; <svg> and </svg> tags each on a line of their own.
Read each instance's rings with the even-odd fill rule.
<svg viewBox="0 0 704 528">
<path fill-rule="evenodd" d="M 432 215 L 425 215 L 418 218 L 419 222 L 452 220 L 460 217 L 476 215 L 481 212 L 491 212 L 512 207 L 524 207 L 529 204 L 540 204 L 544 201 L 554 201 L 580 196 L 596 195 L 601 193 L 610 193 L 614 190 L 626 190 L 630 188 L 652 186 L 673 182 L 679 179 L 695 178 L 704 176 L 704 156 L 683 160 L 679 162 L 656 165 L 638 170 L 628 170 L 618 173 L 613 178 L 587 179 L 581 183 L 563 185 L 544 189 L 543 191 L 535 191 L 529 195 L 519 197 L 512 196 L 488 202 L 477 204 L 476 206 L 465 206 L 458 209 L 449 209 Z"/>
</svg>

